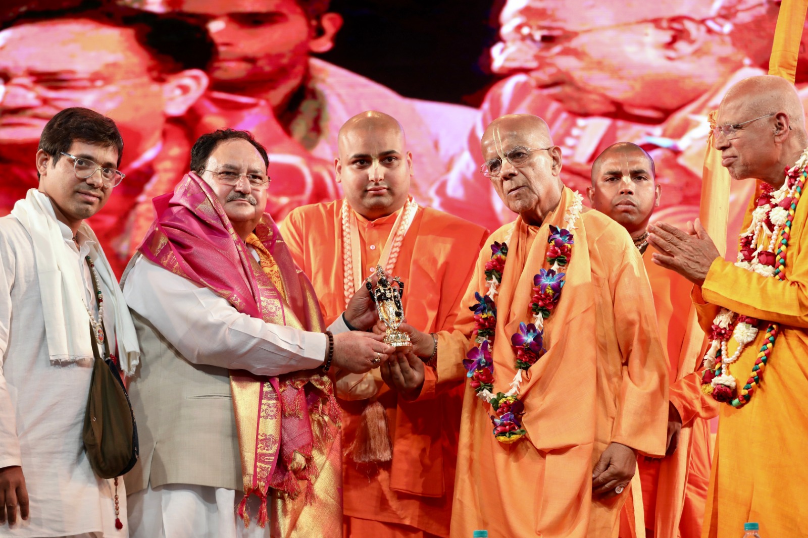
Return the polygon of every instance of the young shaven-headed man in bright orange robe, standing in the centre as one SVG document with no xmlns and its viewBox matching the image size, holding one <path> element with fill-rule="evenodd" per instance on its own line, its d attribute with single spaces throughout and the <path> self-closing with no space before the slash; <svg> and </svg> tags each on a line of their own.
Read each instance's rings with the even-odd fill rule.
<svg viewBox="0 0 808 538">
<path fill-rule="evenodd" d="M 415 204 L 408 195 L 412 156 L 390 116 L 371 111 L 348 120 L 335 166 L 345 199 L 297 208 L 282 225 L 326 319 L 334 321 L 353 293 L 370 301 L 363 279 L 378 264 L 387 278 L 398 276 L 405 285 L 410 322 L 430 331 L 451 328 L 486 229 Z M 337 389 L 344 410 L 346 536 L 448 536 L 462 385 L 419 402 L 404 401 L 372 373 L 346 376 Z M 361 445 L 373 444 L 368 432 L 380 428 L 383 450 L 366 453 Z"/>
</svg>

